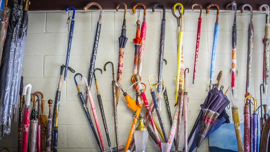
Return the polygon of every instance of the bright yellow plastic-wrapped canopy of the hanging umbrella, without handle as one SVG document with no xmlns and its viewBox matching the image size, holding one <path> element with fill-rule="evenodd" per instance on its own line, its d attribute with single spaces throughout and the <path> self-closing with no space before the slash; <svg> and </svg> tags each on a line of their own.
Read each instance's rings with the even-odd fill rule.
<svg viewBox="0 0 270 152">
<path fill-rule="evenodd" d="M 183 34 L 184 32 L 183 31 L 180 31 L 179 33 L 179 41 L 178 41 L 178 61 L 177 61 L 177 80 L 176 80 L 176 102 L 177 103 L 177 98 L 178 98 L 178 91 L 179 91 L 179 86 L 182 85 L 182 81 L 180 81 L 180 75 L 182 76 L 183 75 L 183 72 L 181 70 L 181 67 L 182 67 L 182 46 L 183 46 Z M 181 82 L 181 83 L 180 83 Z"/>
</svg>

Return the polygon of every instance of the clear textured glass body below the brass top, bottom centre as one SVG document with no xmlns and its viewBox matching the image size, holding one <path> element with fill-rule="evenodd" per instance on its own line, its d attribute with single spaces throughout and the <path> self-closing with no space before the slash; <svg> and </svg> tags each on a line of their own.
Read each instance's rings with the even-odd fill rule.
<svg viewBox="0 0 270 152">
<path fill-rule="evenodd" d="M 148 132 L 142 130 L 135 130 L 134 132 L 136 152 L 146 151 Z"/>
</svg>

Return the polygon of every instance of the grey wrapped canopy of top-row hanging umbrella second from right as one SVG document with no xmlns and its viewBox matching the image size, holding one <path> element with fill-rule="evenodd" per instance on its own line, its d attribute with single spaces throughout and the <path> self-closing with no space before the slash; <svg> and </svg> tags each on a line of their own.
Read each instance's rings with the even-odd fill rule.
<svg viewBox="0 0 270 152">
<path fill-rule="evenodd" d="M 246 92 L 249 92 L 250 87 L 250 73 L 251 73 L 251 62 L 252 62 L 252 48 L 253 48 L 253 24 L 248 29 L 248 57 L 246 64 Z"/>
</svg>

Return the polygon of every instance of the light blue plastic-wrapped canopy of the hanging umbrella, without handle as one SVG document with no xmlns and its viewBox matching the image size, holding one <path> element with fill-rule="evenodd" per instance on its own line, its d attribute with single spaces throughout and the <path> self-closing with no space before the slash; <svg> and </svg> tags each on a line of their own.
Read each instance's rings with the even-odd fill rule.
<svg viewBox="0 0 270 152">
<path fill-rule="evenodd" d="M 210 68 L 210 80 L 213 79 L 214 71 L 215 71 L 215 63 L 216 63 L 216 56 L 217 56 L 218 31 L 219 31 L 219 24 L 217 23 L 217 24 L 215 24 L 215 29 L 214 29 L 214 40 L 213 40 L 211 68 Z"/>
</svg>

